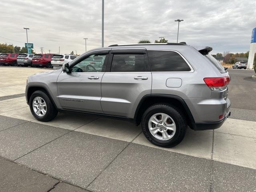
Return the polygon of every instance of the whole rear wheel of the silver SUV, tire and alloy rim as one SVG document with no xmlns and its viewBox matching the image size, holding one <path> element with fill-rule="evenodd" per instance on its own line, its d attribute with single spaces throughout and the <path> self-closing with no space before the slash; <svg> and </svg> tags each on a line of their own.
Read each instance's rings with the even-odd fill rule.
<svg viewBox="0 0 256 192">
<path fill-rule="evenodd" d="M 166 104 L 155 104 L 144 112 L 141 126 L 145 137 L 153 144 L 173 147 L 183 140 L 187 122 L 178 109 Z"/>
</svg>

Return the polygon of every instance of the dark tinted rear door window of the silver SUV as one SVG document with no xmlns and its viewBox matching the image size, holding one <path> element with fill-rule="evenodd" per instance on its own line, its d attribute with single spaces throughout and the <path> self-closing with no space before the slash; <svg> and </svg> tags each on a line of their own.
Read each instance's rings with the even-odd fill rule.
<svg viewBox="0 0 256 192">
<path fill-rule="evenodd" d="M 144 54 L 114 54 L 111 72 L 144 72 Z"/>
</svg>

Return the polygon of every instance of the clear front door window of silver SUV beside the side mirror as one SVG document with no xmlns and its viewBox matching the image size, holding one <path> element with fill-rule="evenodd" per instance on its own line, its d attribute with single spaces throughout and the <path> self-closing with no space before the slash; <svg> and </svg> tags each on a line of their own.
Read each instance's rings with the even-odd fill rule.
<svg viewBox="0 0 256 192">
<path fill-rule="evenodd" d="M 104 72 L 103 64 L 105 58 L 106 54 L 90 55 L 73 66 L 72 72 Z"/>
</svg>

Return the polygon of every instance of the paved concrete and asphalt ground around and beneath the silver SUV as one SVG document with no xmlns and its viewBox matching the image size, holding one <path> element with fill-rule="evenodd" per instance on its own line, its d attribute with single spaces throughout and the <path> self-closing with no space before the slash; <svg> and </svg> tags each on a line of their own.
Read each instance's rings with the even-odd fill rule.
<svg viewBox="0 0 256 192">
<path fill-rule="evenodd" d="M 246 77 L 253 71 L 228 70 L 232 116 L 221 128 L 188 130 L 178 146 L 160 148 L 120 120 L 62 113 L 38 122 L 15 82 L 22 87 L 23 74 L 42 70 L 15 68 L 12 79 L 10 68 L 0 68 L 2 191 L 255 191 L 256 106 L 234 103 L 233 90 L 239 84 L 252 99 L 256 82 Z"/>
</svg>

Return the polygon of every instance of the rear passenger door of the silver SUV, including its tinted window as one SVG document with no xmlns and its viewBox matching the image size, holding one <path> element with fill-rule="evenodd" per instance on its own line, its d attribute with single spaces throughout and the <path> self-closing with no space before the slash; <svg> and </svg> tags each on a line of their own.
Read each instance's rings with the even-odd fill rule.
<svg viewBox="0 0 256 192">
<path fill-rule="evenodd" d="M 151 93 L 151 84 L 146 49 L 112 49 L 101 84 L 103 112 L 133 118 L 142 97 Z"/>
</svg>

